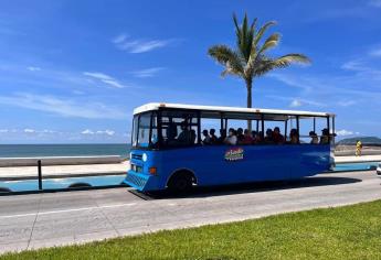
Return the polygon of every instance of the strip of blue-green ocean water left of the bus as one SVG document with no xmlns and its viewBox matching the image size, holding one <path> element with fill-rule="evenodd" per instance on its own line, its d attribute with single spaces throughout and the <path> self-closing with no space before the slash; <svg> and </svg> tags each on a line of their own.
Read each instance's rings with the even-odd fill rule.
<svg viewBox="0 0 381 260">
<path fill-rule="evenodd" d="M 0 158 L 120 155 L 130 144 L 0 144 Z"/>
</svg>

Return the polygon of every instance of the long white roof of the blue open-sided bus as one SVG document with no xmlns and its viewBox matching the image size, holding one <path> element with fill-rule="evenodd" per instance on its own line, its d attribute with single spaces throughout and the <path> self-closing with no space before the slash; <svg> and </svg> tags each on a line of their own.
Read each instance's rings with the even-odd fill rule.
<svg viewBox="0 0 381 260">
<path fill-rule="evenodd" d="M 168 102 L 149 102 L 134 109 L 134 115 L 158 110 L 159 108 L 172 109 L 193 109 L 201 111 L 222 111 L 222 112 L 252 112 L 252 113 L 271 113 L 271 115 L 289 115 L 301 117 L 335 117 L 329 112 L 311 112 L 299 110 L 279 110 L 279 109 L 262 109 L 262 108 L 240 108 L 240 107 L 219 107 L 219 106 L 199 106 L 199 105 L 184 105 L 184 104 L 168 104 Z"/>
</svg>

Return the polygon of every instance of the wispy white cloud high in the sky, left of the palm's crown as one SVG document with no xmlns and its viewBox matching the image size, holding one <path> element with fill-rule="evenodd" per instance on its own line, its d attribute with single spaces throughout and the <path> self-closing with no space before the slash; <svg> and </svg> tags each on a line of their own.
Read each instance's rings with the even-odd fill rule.
<svg viewBox="0 0 381 260">
<path fill-rule="evenodd" d="M 146 53 L 156 48 L 165 47 L 173 42 L 170 40 L 130 40 L 126 34 L 119 34 L 113 42 L 117 48 L 127 51 L 129 53 Z"/>
</svg>

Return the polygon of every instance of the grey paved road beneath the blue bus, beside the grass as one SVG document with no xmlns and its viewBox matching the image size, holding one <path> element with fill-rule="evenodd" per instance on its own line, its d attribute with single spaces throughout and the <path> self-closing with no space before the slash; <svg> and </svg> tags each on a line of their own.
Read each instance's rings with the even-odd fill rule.
<svg viewBox="0 0 381 260">
<path fill-rule="evenodd" d="M 381 198 L 374 172 L 142 199 L 127 188 L 0 197 L 0 252 L 257 218 Z"/>
</svg>

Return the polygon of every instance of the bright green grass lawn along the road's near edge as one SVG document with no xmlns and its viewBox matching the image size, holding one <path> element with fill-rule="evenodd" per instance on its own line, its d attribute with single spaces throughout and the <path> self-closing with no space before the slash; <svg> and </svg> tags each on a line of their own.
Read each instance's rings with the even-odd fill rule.
<svg viewBox="0 0 381 260">
<path fill-rule="evenodd" d="M 381 259 L 381 201 L 0 259 Z"/>
</svg>

